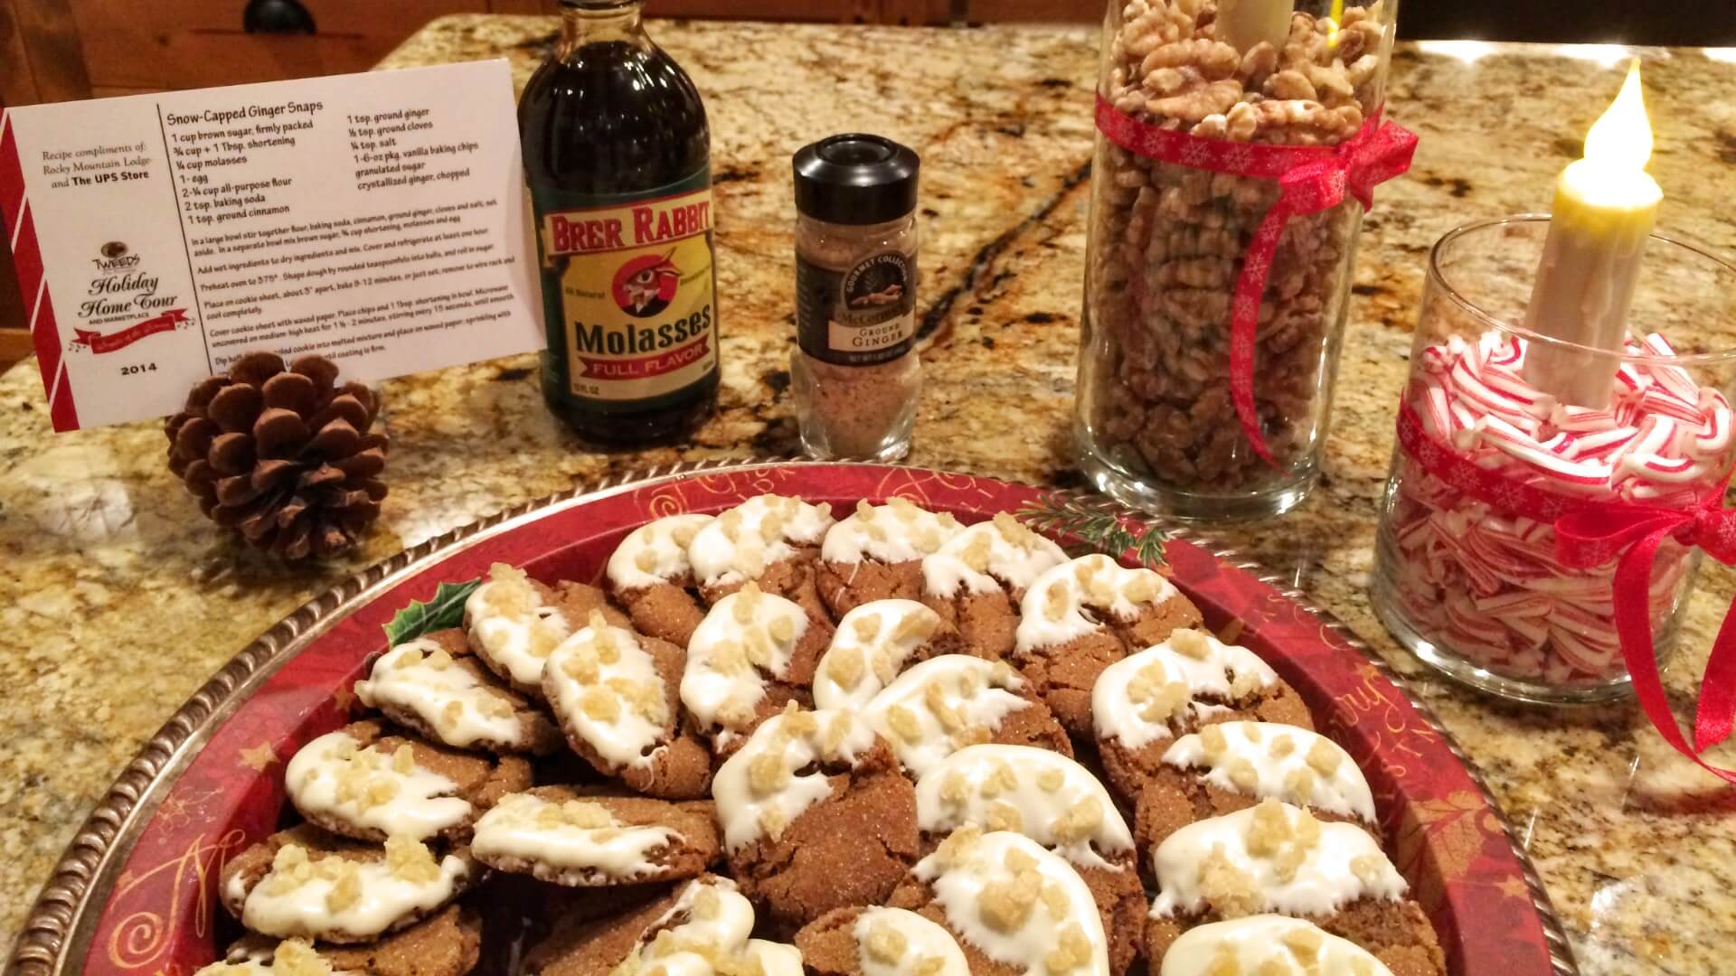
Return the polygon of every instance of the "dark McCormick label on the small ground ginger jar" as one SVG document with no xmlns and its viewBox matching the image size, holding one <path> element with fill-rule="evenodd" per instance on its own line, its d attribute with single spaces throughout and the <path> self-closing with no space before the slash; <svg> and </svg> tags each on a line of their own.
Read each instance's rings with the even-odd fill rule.
<svg viewBox="0 0 1736 976">
<path fill-rule="evenodd" d="M 917 335 L 915 259 L 873 254 L 844 271 L 797 255 L 795 316 L 802 351 L 840 366 L 891 363 Z"/>
</svg>

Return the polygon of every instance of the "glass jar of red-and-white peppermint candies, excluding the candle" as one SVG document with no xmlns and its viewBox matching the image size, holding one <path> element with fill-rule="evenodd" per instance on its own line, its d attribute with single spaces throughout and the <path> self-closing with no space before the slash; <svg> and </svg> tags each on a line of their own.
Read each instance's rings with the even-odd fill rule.
<svg viewBox="0 0 1736 976">
<path fill-rule="evenodd" d="M 1451 677 L 1595 702 L 1656 683 L 1703 552 L 1736 559 L 1736 266 L 1653 233 L 1621 349 L 1578 346 L 1522 325 L 1549 222 L 1430 254 L 1371 597 Z"/>
</svg>

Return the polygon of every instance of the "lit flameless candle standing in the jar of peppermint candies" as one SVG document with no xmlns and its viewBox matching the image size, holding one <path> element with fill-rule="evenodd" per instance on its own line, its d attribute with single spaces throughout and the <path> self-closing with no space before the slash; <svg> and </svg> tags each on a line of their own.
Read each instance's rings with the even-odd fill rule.
<svg viewBox="0 0 1736 976">
<path fill-rule="evenodd" d="M 1555 182 L 1555 210 L 1536 269 L 1526 328 L 1592 349 L 1620 353 L 1639 281 L 1646 238 L 1663 189 L 1646 172 L 1651 123 L 1639 61 L 1621 94 L 1585 135 L 1585 158 Z M 1620 363 L 1576 349 L 1531 346 L 1524 379 L 1564 403 L 1602 410 Z"/>
</svg>

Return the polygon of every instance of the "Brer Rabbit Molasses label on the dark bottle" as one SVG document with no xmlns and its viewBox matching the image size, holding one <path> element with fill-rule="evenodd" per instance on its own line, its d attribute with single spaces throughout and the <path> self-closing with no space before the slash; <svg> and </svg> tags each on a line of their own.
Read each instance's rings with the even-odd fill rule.
<svg viewBox="0 0 1736 976">
<path fill-rule="evenodd" d="M 561 389 L 641 410 L 717 368 L 708 172 L 651 195 L 531 196 Z"/>
</svg>

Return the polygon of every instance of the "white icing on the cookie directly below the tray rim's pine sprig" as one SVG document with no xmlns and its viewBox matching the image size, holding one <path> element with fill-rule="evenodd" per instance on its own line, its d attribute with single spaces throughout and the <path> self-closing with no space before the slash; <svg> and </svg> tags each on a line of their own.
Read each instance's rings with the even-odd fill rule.
<svg viewBox="0 0 1736 976">
<path fill-rule="evenodd" d="M 1146 568 L 1127 568 L 1092 552 L 1045 571 L 1019 603 L 1019 653 L 1066 644 L 1101 627 L 1101 615 L 1132 623 L 1175 596 L 1175 584 Z"/>
</svg>

